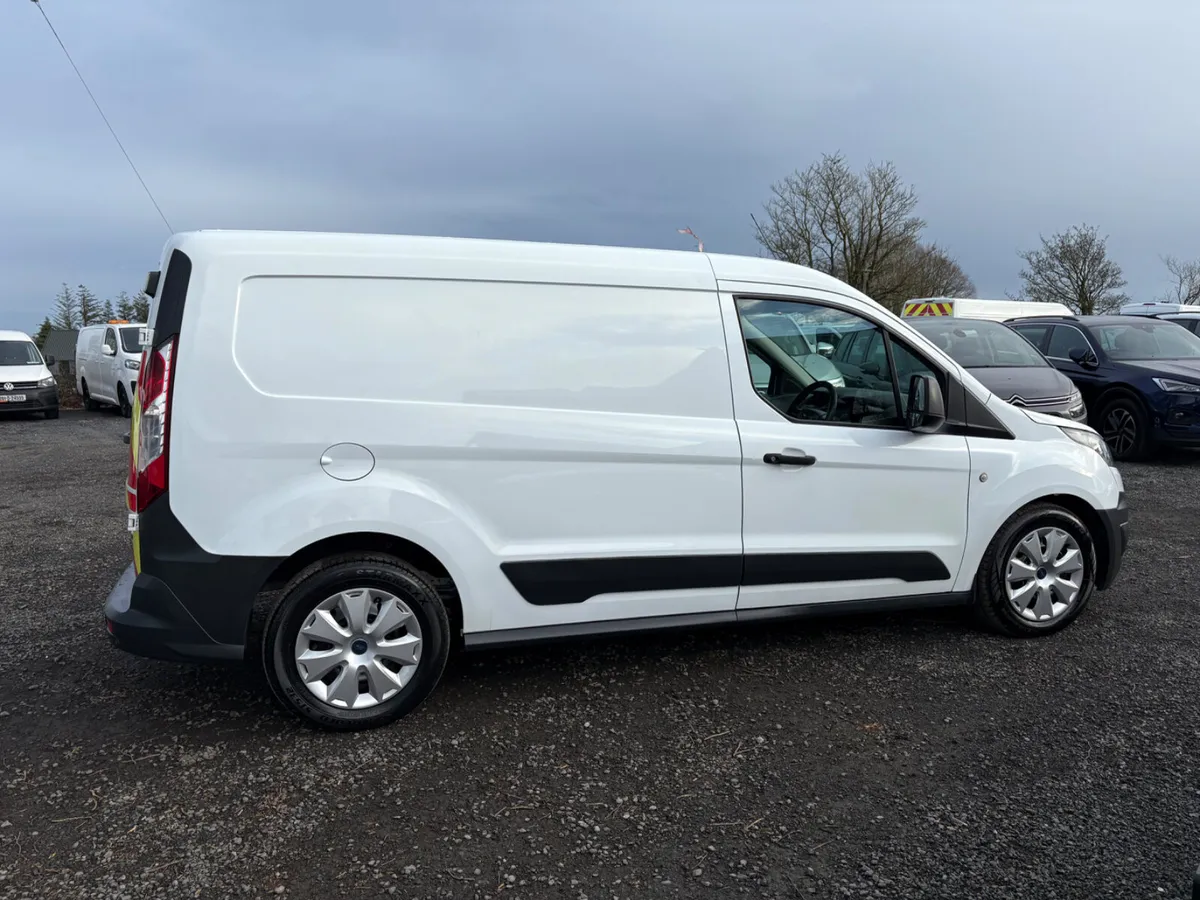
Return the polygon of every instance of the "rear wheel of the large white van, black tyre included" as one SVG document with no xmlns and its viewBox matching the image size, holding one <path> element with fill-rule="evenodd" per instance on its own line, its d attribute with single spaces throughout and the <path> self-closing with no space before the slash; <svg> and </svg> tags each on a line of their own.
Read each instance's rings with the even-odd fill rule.
<svg viewBox="0 0 1200 900">
<path fill-rule="evenodd" d="M 365 606 L 355 607 L 355 602 Z M 373 634 L 371 628 L 379 624 L 384 605 L 390 605 L 389 618 L 395 617 L 398 630 Z M 324 616 L 318 619 L 320 607 L 325 607 Z M 355 610 L 360 612 L 358 623 L 347 614 L 355 614 Z M 336 632 L 329 630 L 330 620 Z M 307 635 L 322 632 L 338 643 L 302 637 L 306 628 L 311 629 Z M 388 635 L 391 640 L 380 640 Z M 419 650 L 413 654 L 416 635 Z M 450 655 L 450 637 L 446 607 L 430 575 L 386 556 L 334 557 L 310 566 L 284 588 L 263 629 L 263 670 L 275 697 L 308 724 L 332 731 L 376 728 L 413 712 L 433 691 Z M 404 649 L 398 650 L 402 644 Z M 396 662 L 388 652 L 376 655 L 389 646 L 392 656 L 401 652 L 409 654 L 408 659 L 415 655 L 415 665 Z M 312 654 L 318 665 L 329 667 L 312 686 L 301 673 L 300 653 Z M 341 661 L 329 665 L 319 654 L 330 654 L 330 662 Z M 317 674 L 316 670 L 311 673 Z"/>
</svg>

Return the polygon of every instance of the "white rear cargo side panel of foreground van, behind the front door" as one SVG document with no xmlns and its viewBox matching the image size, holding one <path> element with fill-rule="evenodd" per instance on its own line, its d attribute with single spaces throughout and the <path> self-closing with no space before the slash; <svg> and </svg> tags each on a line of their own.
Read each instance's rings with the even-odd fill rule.
<svg viewBox="0 0 1200 900">
<path fill-rule="evenodd" d="M 395 534 L 450 570 L 468 632 L 734 608 L 740 445 L 710 276 L 361 277 L 354 259 L 299 259 L 310 274 L 194 259 L 170 506 L 205 551 Z M 338 444 L 367 448 L 370 473 L 326 474 Z M 527 587 L 529 566 L 502 570 L 521 563 L 545 563 L 533 577 L 564 583 L 562 601 Z"/>
</svg>

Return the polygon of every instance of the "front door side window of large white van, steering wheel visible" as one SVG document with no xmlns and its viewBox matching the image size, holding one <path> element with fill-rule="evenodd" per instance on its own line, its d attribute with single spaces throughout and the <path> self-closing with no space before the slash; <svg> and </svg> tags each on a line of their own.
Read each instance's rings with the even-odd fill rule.
<svg viewBox="0 0 1200 900">
<path fill-rule="evenodd" d="M 896 427 L 908 379 L 936 376 L 854 313 L 793 300 L 736 302 L 754 389 L 788 419 Z"/>
</svg>

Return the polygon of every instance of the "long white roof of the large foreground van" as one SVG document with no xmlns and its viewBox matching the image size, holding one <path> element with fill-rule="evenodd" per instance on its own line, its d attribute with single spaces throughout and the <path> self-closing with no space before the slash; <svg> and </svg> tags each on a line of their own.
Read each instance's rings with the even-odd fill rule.
<svg viewBox="0 0 1200 900">
<path fill-rule="evenodd" d="M 535 263 L 586 266 L 602 282 L 613 283 L 624 274 L 637 274 L 640 283 L 659 287 L 703 287 L 713 276 L 724 282 L 751 282 L 816 288 L 864 296 L 830 275 L 792 263 L 694 250 L 647 250 L 587 244 L 542 244 L 534 241 L 485 240 L 476 238 L 428 238 L 397 234 L 337 234 L 319 232 L 200 230 L 175 234 L 172 248 L 193 256 L 226 251 L 262 253 L 330 253 L 355 257 L 398 257 L 414 259 L 461 259 L 464 263 Z M 606 271 L 607 270 L 607 271 Z M 602 276 L 601 274 L 605 272 Z M 485 276 L 481 276 L 485 277 Z M 535 278 L 538 276 L 534 276 Z"/>
</svg>

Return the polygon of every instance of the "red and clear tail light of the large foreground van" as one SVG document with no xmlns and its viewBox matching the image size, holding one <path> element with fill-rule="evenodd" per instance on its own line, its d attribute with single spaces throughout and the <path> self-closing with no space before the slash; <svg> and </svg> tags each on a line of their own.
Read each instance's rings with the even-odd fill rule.
<svg viewBox="0 0 1200 900">
<path fill-rule="evenodd" d="M 138 372 L 137 440 L 130 442 L 128 506 L 142 512 L 167 491 L 167 437 L 170 428 L 170 373 L 175 356 L 172 337 L 142 354 Z"/>
</svg>

